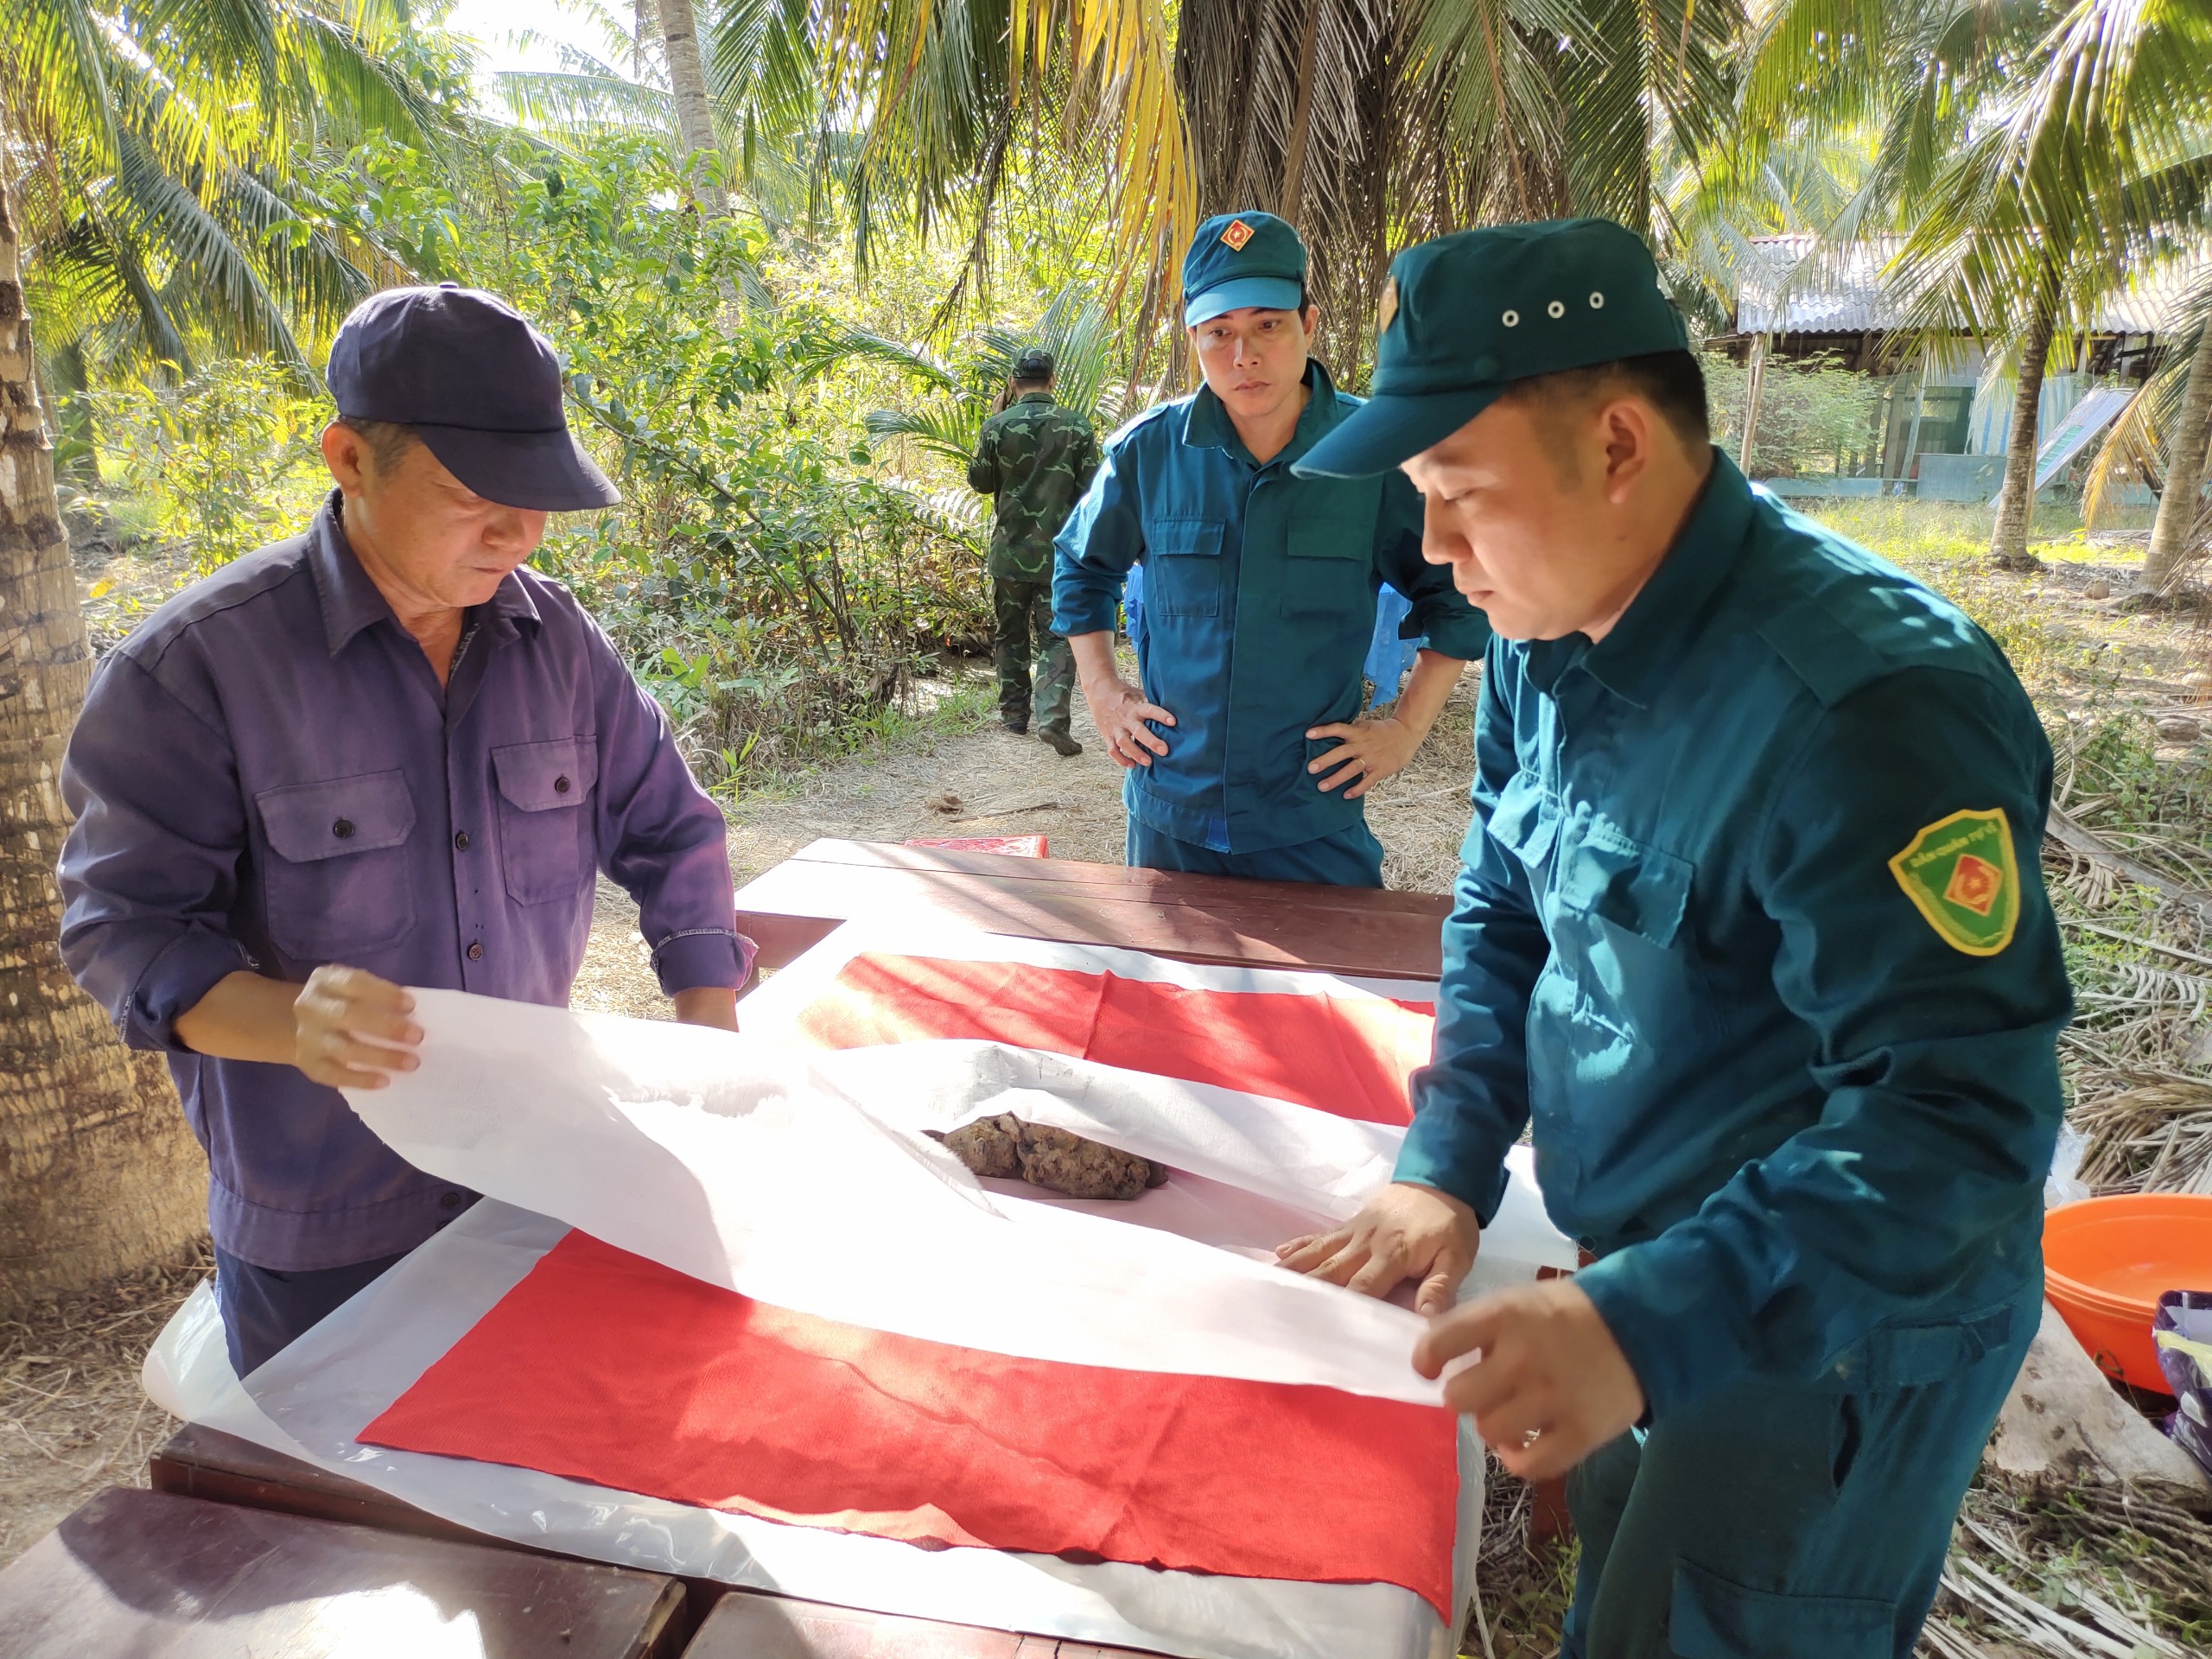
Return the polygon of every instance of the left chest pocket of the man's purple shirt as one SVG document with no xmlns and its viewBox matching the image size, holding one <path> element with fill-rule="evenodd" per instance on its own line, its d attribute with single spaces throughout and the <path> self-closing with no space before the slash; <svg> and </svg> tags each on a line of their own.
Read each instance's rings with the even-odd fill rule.
<svg viewBox="0 0 2212 1659">
<path fill-rule="evenodd" d="M 358 960 L 414 929 L 405 772 L 363 772 L 259 790 L 270 860 L 261 900 L 270 940 L 294 962 Z"/>
</svg>

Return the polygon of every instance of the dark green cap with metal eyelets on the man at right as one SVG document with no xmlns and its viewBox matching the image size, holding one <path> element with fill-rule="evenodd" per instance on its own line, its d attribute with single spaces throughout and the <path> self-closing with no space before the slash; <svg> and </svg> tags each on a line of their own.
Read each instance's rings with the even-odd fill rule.
<svg viewBox="0 0 2212 1659">
<path fill-rule="evenodd" d="M 1515 380 L 1690 349 L 1644 239 L 1610 219 L 1493 226 L 1407 248 L 1380 312 L 1374 396 L 1294 473 L 1385 473 Z"/>
</svg>

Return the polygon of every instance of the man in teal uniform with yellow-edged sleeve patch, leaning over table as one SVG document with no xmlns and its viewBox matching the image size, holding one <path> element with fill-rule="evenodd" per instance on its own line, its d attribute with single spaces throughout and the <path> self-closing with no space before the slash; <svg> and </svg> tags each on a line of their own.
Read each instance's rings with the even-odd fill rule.
<svg viewBox="0 0 2212 1659">
<path fill-rule="evenodd" d="M 1644 243 L 1398 257 L 1376 396 L 1484 606 L 1475 823 L 1396 1183 L 1285 1265 L 1436 1316 L 1573 1469 L 1575 1659 L 1902 1659 L 2042 1307 L 2070 1015 L 2051 750 L 1960 611 L 1754 493 Z M 1453 1307 L 1504 1155 L 1595 1261 Z"/>
</svg>

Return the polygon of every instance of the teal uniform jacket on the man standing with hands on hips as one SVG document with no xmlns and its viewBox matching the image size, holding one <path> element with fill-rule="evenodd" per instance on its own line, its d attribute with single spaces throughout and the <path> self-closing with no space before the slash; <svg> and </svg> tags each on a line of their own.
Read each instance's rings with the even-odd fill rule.
<svg viewBox="0 0 2212 1659">
<path fill-rule="evenodd" d="M 1292 478 L 1290 467 L 1358 407 L 1327 369 L 1290 447 L 1265 467 L 1221 400 L 1199 389 L 1117 431 L 1060 531 L 1053 633 L 1115 626 L 1144 560 L 1144 695 L 1175 714 L 1168 752 L 1130 768 L 1139 823 L 1217 852 L 1265 852 L 1363 823 L 1305 763 L 1336 748 L 1310 726 L 1360 712 L 1376 591 L 1411 599 L 1405 639 L 1471 661 L 1489 641 L 1451 573 L 1420 557 L 1420 495 L 1402 473 Z"/>
</svg>

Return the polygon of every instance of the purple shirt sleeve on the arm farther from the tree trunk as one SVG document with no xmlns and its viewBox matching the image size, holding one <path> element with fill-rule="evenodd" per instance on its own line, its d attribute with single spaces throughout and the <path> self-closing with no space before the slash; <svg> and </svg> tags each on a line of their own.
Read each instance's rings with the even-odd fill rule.
<svg viewBox="0 0 2212 1659">
<path fill-rule="evenodd" d="M 668 714 L 591 624 L 599 717 L 604 869 L 637 900 L 637 931 L 661 991 L 737 989 L 752 940 L 737 931 L 728 825 L 677 750 Z"/>
</svg>

